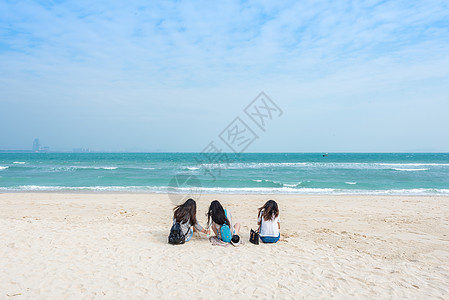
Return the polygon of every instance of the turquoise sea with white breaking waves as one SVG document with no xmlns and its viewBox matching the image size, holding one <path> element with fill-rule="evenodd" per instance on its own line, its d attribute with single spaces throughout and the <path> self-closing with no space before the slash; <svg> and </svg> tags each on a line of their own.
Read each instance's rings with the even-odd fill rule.
<svg viewBox="0 0 449 300">
<path fill-rule="evenodd" d="M 203 193 L 449 195 L 447 153 L 246 153 L 228 159 L 217 165 L 204 163 L 199 153 L 0 153 L 0 191 L 165 193 L 181 174 L 196 178 Z"/>
</svg>

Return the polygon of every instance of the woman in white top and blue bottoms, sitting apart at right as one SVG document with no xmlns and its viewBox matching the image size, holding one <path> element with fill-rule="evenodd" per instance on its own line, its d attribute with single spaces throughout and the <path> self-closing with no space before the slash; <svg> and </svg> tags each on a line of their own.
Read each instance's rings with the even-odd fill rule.
<svg viewBox="0 0 449 300">
<path fill-rule="evenodd" d="M 259 208 L 259 217 L 257 225 L 259 225 L 260 239 L 264 243 L 276 243 L 279 241 L 281 234 L 281 220 L 279 218 L 279 208 L 274 200 L 268 200 L 264 206 Z"/>
</svg>

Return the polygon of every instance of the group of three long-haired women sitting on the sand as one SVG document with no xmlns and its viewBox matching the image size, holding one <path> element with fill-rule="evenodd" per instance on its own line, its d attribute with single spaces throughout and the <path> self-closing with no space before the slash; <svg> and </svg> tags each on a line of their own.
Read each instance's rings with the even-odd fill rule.
<svg viewBox="0 0 449 300">
<path fill-rule="evenodd" d="M 234 223 L 232 214 L 223 208 L 218 200 L 211 202 L 207 212 L 207 229 L 198 224 L 196 218 L 196 202 L 188 199 L 174 209 L 173 226 L 170 230 L 169 243 L 183 244 L 190 241 L 193 232 L 202 232 L 209 235 L 212 229 L 215 239 L 234 246 L 240 244 L 240 223 Z M 268 200 L 259 208 L 257 218 L 257 233 L 264 243 L 276 243 L 279 241 L 280 218 L 279 208 L 274 200 Z"/>
</svg>

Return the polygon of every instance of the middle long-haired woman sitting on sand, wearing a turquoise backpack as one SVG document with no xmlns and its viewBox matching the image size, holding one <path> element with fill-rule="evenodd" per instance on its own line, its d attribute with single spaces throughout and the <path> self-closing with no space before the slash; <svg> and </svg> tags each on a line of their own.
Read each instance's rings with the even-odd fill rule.
<svg viewBox="0 0 449 300">
<path fill-rule="evenodd" d="M 221 236 L 221 227 L 227 225 L 230 228 L 233 243 L 238 244 L 240 238 L 238 237 L 240 233 L 240 224 L 232 223 L 232 215 L 229 210 L 225 210 L 218 200 L 211 202 L 209 210 L 207 212 L 207 226 L 211 226 L 217 238 L 222 241 L 224 237 Z M 237 237 L 235 237 L 237 236 Z"/>
</svg>

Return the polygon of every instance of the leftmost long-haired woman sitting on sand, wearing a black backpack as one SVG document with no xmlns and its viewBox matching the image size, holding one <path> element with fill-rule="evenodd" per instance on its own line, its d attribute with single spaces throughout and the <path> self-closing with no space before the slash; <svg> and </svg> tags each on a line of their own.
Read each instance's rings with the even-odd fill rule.
<svg viewBox="0 0 449 300">
<path fill-rule="evenodd" d="M 186 237 L 186 242 L 190 241 L 194 231 L 200 231 L 209 234 L 196 220 L 196 202 L 188 199 L 183 204 L 177 205 L 174 209 L 173 224 L 176 222 L 181 225 L 182 234 Z"/>
</svg>

